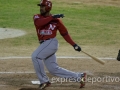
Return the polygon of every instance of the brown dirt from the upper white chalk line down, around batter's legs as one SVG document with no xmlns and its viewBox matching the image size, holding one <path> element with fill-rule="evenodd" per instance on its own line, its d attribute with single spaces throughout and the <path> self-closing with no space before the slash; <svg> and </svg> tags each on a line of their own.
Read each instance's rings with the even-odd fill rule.
<svg viewBox="0 0 120 90">
<path fill-rule="evenodd" d="M 101 65 L 92 59 L 57 59 L 59 66 L 75 72 L 86 72 L 86 87 L 81 90 L 120 90 L 120 62 L 105 60 Z M 47 75 L 51 75 L 45 68 Z M 0 60 L 0 89 L 1 90 L 39 90 L 38 81 L 31 59 Z M 80 90 L 79 83 L 60 81 L 52 83 L 46 90 Z"/>
</svg>

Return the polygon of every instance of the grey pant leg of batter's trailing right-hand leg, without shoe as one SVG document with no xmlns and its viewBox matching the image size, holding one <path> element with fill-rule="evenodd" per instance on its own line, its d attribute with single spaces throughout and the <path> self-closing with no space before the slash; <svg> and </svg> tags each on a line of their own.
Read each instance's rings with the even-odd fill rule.
<svg viewBox="0 0 120 90">
<path fill-rule="evenodd" d="M 44 60 L 44 63 L 48 71 L 55 76 L 59 76 L 62 78 L 75 78 L 78 80 L 81 78 L 81 73 L 73 72 L 62 67 L 59 67 L 56 61 L 55 54 L 49 57 L 48 59 Z"/>
</svg>

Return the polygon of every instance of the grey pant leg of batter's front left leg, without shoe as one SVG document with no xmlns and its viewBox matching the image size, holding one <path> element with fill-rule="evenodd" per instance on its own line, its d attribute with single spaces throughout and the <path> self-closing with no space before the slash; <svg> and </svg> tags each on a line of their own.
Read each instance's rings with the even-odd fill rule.
<svg viewBox="0 0 120 90">
<path fill-rule="evenodd" d="M 32 54 L 33 65 L 41 83 L 49 81 L 44 71 L 43 60 L 56 52 L 57 46 L 53 44 L 54 39 L 47 40 L 42 43 Z"/>
</svg>

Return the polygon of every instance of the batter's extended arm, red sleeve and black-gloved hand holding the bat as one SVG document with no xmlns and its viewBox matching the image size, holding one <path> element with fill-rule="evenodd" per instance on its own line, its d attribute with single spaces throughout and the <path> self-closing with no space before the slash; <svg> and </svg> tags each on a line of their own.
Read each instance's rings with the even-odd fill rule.
<svg viewBox="0 0 120 90">
<path fill-rule="evenodd" d="M 69 44 L 71 44 L 76 51 L 81 51 L 80 46 L 78 46 L 78 45 L 72 40 L 72 38 L 70 37 L 70 35 L 69 35 L 68 31 L 67 31 L 67 28 L 63 25 L 63 23 L 61 22 L 60 19 L 59 19 L 58 28 L 59 28 L 59 32 L 60 32 L 60 34 L 62 35 L 62 37 L 63 37 Z"/>
</svg>

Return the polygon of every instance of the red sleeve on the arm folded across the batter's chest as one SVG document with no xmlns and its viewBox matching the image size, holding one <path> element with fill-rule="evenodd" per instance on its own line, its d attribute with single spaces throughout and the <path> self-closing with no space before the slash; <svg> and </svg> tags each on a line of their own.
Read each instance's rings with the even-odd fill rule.
<svg viewBox="0 0 120 90">
<path fill-rule="evenodd" d="M 43 18 L 42 16 L 39 16 L 39 15 L 34 15 L 33 16 L 34 24 L 37 27 L 44 26 L 45 24 L 49 23 L 52 19 L 53 19 L 52 16 L 49 16 L 49 17 L 46 17 L 46 18 Z"/>
</svg>

